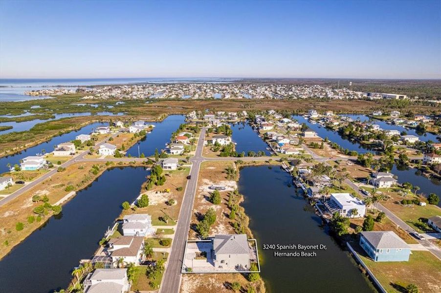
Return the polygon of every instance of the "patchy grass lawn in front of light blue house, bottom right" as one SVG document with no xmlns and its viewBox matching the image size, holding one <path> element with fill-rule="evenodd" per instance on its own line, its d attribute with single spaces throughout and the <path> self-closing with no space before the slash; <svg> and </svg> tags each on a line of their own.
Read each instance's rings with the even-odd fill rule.
<svg viewBox="0 0 441 293">
<path fill-rule="evenodd" d="M 358 255 L 387 292 L 405 292 L 409 284 L 417 285 L 419 292 L 441 290 L 441 261 L 429 251 L 412 251 L 408 262 L 374 262 Z"/>
</svg>

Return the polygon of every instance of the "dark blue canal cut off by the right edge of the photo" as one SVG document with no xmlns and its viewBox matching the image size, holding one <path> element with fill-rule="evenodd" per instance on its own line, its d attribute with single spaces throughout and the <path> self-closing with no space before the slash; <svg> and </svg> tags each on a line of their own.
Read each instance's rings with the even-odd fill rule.
<svg viewBox="0 0 441 293">
<path fill-rule="evenodd" d="M 437 178 L 427 178 L 423 176 L 421 171 L 415 168 L 400 167 L 394 165 L 392 173 L 398 176 L 398 183 L 410 182 L 413 186 L 418 186 L 417 193 L 423 193 L 424 196 L 428 196 L 430 193 L 435 193 L 441 197 L 441 181 Z M 438 203 L 438 207 L 441 208 L 441 201 Z"/>
</svg>

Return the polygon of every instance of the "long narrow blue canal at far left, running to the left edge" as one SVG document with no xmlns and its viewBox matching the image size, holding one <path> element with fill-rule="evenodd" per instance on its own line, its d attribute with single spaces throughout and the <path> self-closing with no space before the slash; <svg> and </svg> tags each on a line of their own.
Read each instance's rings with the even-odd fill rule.
<svg viewBox="0 0 441 293">
<path fill-rule="evenodd" d="M 20 160 L 22 160 L 24 157 L 35 156 L 38 153 L 42 153 L 43 150 L 45 150 L 46 153 L 49 153 L 53 151 L 54 147 L 57 146 L 58 144 L 70 142 L 74 140 L 77 135 L 91 133 L 93 129 L 95 129 L 96 127 L 105 126 L 105 125 L 109 125 L 109 123 L 102 123 L 102 122 L 92 123 L 80 128 L 79 130 L 71 131 L 62 134 L 60 136 L 55 136 L 47 142 L 41 143 L 37 146 L 29 147 L 14 155 L 2 157 L 0 158 L 0 173 L 9 171 L 9 168 L 7 167 L 8 163 L 11 164 L 11 166 L 14 166 L 15 164 L 20 164 Z"/>
</svg>

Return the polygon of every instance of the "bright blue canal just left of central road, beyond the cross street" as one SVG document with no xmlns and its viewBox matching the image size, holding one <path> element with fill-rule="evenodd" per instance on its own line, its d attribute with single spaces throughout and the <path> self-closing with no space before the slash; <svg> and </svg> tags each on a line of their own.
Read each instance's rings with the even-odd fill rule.
<svg viewBox="0 0 441 293">
<path fill-rule="evenodd" d="M 185 117 L 183 115 L 170 115 L 161 122 L 146 122 L 155 126 L 153 131 L 129 148 L 126 155 L 130 154 L 133 157 L 137 157 L 138 146 L 139 154 L 144 153 L 145 156 L 153 155 L 156 148 L 161 152 L 161 149 L 165 149 L 165 145 L 170 142 L 172 133 L 184 122 Z"/>
</svg>

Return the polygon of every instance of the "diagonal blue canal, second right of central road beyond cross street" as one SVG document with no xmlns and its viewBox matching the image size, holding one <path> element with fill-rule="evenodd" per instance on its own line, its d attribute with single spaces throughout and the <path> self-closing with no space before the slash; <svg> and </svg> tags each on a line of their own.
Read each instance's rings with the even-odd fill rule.
<svg viewBox="0 0 441 293">
<path fill-rule="evenodd" d="M 318 136 L 320 136 L 321 138 L 325 139 L 326 137 L 328 137 L 328 139 L 333 142 L 338 144 L 339 146 L 343 147 L 343 148 L 347 148 L 349 150 L 355 150 L 358 153 L 368 153 L 368 152 L 374 152 L 372 150 L 369 150 L 368 147 L 366 146 L 362 146 L 357 142 L 351 142 L 349 140 L 346 140 L 344 138 L 342 138 L 336 131 L 332 131 L 330 129 L 327 129 L 326 127 L 323 127 L 319 124 L 312 124 L 310 123 L 305 117 L 300 116 L 300 115 L 292 115 L 292 118 L 297 120 L 300 124 L 305 123 L 309 128 L 311 128 L 312 130 L 314 130 Z"/>
</svg>

